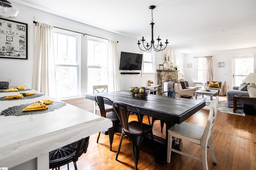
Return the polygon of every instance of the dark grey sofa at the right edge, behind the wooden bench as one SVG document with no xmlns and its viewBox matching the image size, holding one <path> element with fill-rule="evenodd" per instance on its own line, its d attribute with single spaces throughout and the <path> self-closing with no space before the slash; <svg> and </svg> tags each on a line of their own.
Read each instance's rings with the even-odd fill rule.
<svg viewBox="0 0 256 170">
<path fill-rule="evenodd" d="M 240 91 L 238 90 L 238 86 L 234 86 L 233 90 L 227 91 L 227 101 L 228 101 L 228 107 L 233 107 L 233 97 L 235 95 L 241 94 L 243 96 L 249 96 L 248 91 Z M 237 100 L 237 108 L 243 109 L 244 104 L 250 104 L 254 106 L 254 109 L 256 109 L 256 102 L 251 102 L 247 100 Z"/>
</svg>

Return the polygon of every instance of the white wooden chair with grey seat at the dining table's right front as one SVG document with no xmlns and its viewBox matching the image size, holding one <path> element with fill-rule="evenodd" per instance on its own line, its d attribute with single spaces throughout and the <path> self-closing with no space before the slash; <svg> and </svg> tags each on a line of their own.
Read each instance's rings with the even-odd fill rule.
<svg viewBox="0 0 256 170">
<path fill-rule="evenodd" d="M 184 156 L 188 156 L 190 158 L 194 158 L 196 160 L 200 160 L 203 164 L 203 169 L 208 170 L 207 164 L 207 144 L 210 149 L 210 154 L 212 157 L 212 162 L 216 164 L 216 159 L 214 156 L 214 151 L 212 147 L 212 135 L 213 128 L 216 121 L 217 109 L 218 109 L 219 97 L 211 100 L 210 103 L 210 113 L 208 116 L 208 121 L 206 123 L 206 127 L 201 127 L 198 125 L 193 125 L 190 123 L 182 122 L 180 124 L 175 124 L 170 129 L 168 129 L 168 149 L 167 149 L 167 162 L 171 161 L 171 152 L 176 152 L 178 154 L 182 154 Z M 180 150 L 176 150 L 172 148 L 172 141 L 175 138 L 180 139 L 179 145 L 182 145 L 182 139 L 189 141 L 191 143 L 195 143 L 197 145 L 201 145 L 201 157 L 198 158 L 196 156 L 190 155 L 188 153 L 181 151 L 181 146 L 179 146 Z"/>
</svg>

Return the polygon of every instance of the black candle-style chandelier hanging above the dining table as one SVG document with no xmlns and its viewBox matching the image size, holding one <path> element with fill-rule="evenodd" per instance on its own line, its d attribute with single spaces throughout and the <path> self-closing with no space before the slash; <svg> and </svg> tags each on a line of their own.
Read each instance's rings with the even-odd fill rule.
<svg viewBox="0 0 256 170">
<path fill-rule="evenodd" d="M 165 45 L 165 47 L 162 49 L 162 41 L 161 41 L 161 39 L 159 38 L 159 35 L 158 35 L 158 39 L 156 39 L 157 41 L 158 41 L 158 44 L 157 44 L 157 46 L 155 47 L 155 45 L 154 45 L 154 39 L 153 39 L 153 26 L 154 26 L 154 20 L 153 20 L 153 9 L 155 9 L 156 8 L 156 6 L 154 6 L 154 5 L 152 5 L 152 6 L 149 6 L 149 9 L 151 9 L 151 11 L 152 11 L 152 20 L 151 20 L 151 23 L 150 23 L 150 25 L 151 25 L 151 41 L 150 41 L 150 45 L 148 44 L 148 42 L 147 42 L 147 45 L 144 45 L 144 41 L 145 41 L 145 39 L 144 39 L 144 35 L 142 35 L 142 40 L 140 40 L 140 38 L 138 38 L 138 46 L 139 46 L 139 48 L 140 48 L 140 41 L 142 41 L 142 44 L 143 44 L 143 47 L 144 47 L 144 49 L 141 49 L 140 48 L 140 50 L 142 50 L 142 51 L 148 51 L 148 52 L 150 52 L 151 50 L 152 50 L 152 47 L 153 47 L 153 49 L 156 51 L 156 52 L 158 52 L 158 51 L 162 51 L 162 50 L 164 50 L 166 47 L 167 47 L 167 44 L 169 43 L 168 42 L 168 40 L 167 40 L 167 37 L 166 37 L 166 42 L 164 42 L 166 45 Z M 159 41 L 160 41 L 160 44 L 159 44 Z M 160 49 L 158 48 L 160 46 Z"/>
</svg>

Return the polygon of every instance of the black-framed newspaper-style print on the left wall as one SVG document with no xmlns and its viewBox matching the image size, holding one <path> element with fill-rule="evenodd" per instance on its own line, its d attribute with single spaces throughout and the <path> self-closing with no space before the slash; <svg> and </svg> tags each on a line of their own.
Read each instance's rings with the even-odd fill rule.
<svg viewBox="0 0 256 170">
<path fill-rule="evenodd" d="M 28 59 L 28 24 L 0 18 L 0 58 Z"/>
</svg>

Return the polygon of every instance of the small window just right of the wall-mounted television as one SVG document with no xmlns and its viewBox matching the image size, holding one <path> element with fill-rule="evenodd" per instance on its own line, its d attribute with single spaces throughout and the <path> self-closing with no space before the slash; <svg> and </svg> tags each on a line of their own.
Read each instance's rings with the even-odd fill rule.
<svg viewBox="0 0 256 170">
<path fill-rule="evenodd" d="M 143 53 L 143 72 L 152 73 L 154 72 L 154 53 L 144 52 Z"/>
</svg>

